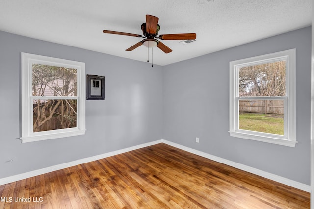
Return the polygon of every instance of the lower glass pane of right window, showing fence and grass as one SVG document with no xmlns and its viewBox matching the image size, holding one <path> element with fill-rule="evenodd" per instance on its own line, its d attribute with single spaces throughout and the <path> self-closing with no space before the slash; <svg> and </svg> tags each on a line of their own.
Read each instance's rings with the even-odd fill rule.
<svg viewBox="0 0 314 209">
<path fill-rule="evenodd" d="M 239 129 L 284 135 L 284 100 L 239 100 Z"/>
</svg>

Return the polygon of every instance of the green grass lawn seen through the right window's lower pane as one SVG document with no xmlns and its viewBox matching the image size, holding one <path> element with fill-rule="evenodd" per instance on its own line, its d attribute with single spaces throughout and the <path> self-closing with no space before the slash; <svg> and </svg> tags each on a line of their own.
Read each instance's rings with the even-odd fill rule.
<svg viewBox="0 0 314 209">
<path fill-rule="evenodd" d="M 239 117 L 240 129 L 284 135 L 283 115 L 240 113 Z"/>
</svg>

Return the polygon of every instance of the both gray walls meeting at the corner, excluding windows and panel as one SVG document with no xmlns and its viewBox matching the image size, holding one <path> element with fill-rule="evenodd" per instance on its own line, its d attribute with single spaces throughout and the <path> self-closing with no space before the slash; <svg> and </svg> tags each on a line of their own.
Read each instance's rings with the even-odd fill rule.
<svg viewBox="0 0 314 209">
<path fill-rule="evenodd" d="M 151 68 L 145 62 L 0 31 L 0 178 L 166 139 L 310 185 L 310 43 L 308 27 Z M 299 143 L 291 148 L 230 137 L 229 61 L 290 48 L 296 48 L 297 56 Z M 86 101 L 85 135 L 25 144 L 17 139 L 20 52 L 85 62 L 86 74 L 106 76 L 105 101 Z"/>
</svg>

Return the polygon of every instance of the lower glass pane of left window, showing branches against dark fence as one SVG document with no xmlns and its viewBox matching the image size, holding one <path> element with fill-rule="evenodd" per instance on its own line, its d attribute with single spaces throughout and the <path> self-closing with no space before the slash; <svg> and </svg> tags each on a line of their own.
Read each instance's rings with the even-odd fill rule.
<svg viewBox="0 0 314 209">
<path fill-rule="evenodd" d="M 33 99 L 33 132 L 77 127 L 77 100 Z"/>
</svg>

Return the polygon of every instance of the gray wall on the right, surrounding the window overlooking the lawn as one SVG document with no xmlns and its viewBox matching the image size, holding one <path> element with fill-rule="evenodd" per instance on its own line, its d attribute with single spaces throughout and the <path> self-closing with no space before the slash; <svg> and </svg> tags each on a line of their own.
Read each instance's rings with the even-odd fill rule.
<svg viewBox="0 0 314 209">
<path fill-rule="evenodd" d="M 229 62 L 291 48 L 296 147 L 230 137 Z M 163 82 L 164 139 L 310 185 L 311 27 L 165 66 Z"/>
</svg>

